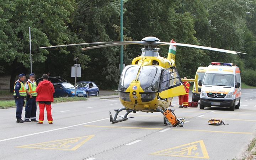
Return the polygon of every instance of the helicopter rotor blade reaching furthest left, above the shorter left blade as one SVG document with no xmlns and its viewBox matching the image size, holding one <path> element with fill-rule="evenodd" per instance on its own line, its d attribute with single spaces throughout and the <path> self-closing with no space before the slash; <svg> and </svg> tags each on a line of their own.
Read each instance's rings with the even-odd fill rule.
<svg viewBox="0 0 256 160">
<path fill-rule="evenodd" d="M 38 47 L 38 48 L 52 48 L 52 47 L 65 47 L 65 46 L 79 46 L 79 45 L 87 45 L 87 44 L 113 44 L 113 43 L 124 43 L 124 44 L 119 44 L 119 45 L 126 45 L 128 44 L 141 44 L 141 45 L 146 45 L 144 41 L 129 41 L 129 42 L 92 42 L 92 43 L 79 43 L 79 44 L 65 44 L 65 45 L 59 45 L 59 46 L 48 46 L 48 47 Z M 144 45 L 144 46 L 145 46 Z M 115 45 L 117 46 L 117 45 Z M 106 47 L 106 46 L 105 46 Z"/>
</svg>

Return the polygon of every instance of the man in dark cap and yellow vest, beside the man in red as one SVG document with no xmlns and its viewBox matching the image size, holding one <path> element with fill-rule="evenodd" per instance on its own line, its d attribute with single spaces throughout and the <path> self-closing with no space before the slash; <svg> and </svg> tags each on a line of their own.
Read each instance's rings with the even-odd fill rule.
<svg viewBox="0 0 256 160">
<path fill-rule="evenodd" d="M 36 120 L 36 81 L 34 81 L 34 73 L 30 74 L 30 79 L 25 83 L 26 92 L 27 92 L 27 102 L 25 107 L 25 122 L 38 122 Z M 30 121 L 30 120 L 31 121 Z"/>
</svg>

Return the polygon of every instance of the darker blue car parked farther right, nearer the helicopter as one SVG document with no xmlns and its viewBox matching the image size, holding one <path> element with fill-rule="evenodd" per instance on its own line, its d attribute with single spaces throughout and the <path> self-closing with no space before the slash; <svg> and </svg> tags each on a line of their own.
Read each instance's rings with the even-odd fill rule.
<svg viewBox="0 0 256 160">
<path fill-rule="evenodd" d="M 95 82 L 91 81 L 80 81 L 76 83 L 76 88 L 86 92 L 88 96 L 98 96 L 99 90 Z"/>
</svg>

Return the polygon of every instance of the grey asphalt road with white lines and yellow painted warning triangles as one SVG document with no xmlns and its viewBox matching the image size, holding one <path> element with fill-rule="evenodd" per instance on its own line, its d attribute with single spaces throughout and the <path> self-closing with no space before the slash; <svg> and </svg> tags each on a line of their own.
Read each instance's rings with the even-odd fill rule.
<svg viewBox="0 0 256 160">
<path fill-rule="evenodd" d="M 109 111 L 114 114 L 122 105 L 113 98 L 117 95 L 104 98 L 108 97 L 112 98 L 52 104 L 53 124 L 47 123 L 46 112 L 44 123 L 36 124 L 16 123 L 16 108 L 0 110 L 0 159 L 231 160 L 242 158 L 255 137 L 256 89 L 242 89 L 241 106 L 235 111 L 178 108 L 174 97 L 176 116 L 186 118 L 183 128 L 165 126 L 161 113 L 145 112 L 112 124 Z M 209 126 L 207 121 L 212 118 L 229 125 Z"/>
</svg>

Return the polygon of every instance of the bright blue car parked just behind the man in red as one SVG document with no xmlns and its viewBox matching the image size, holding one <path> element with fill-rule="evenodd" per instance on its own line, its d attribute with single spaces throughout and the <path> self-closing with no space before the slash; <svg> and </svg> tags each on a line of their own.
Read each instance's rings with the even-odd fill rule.
<svg viewBox="0 0 256 160">
<path fill-rule="evenodd" d="M 75 96 L 75 86 L 71 83 L 53 83 L 54 87 L 54 97 L 74 97 Z M 85 91 L 76 89 L 76 96 L 87 97 Z"/>
</svg>

